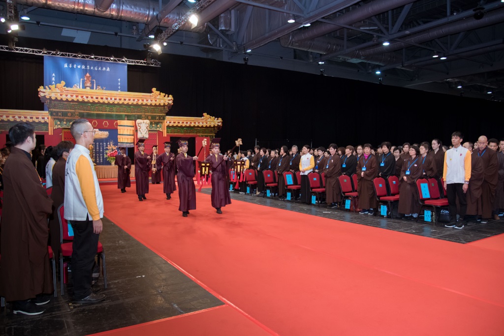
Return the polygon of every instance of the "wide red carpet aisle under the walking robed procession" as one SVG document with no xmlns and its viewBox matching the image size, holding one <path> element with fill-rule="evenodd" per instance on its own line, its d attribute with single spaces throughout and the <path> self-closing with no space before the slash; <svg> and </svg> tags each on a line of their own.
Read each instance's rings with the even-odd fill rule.
<svg viewBox="0 0 504 336">
<path fill-rule="evenodd" d="M 182 218 L 162 185 L 141 204 L 102 193 L 107 218 L 266 330 L 504 334 L 501 251 L 235 200 L 217 215 L 202 193 Z M 145 219 L 156 211 L 165 220 Z"/>
</svg>

